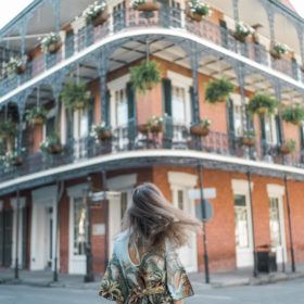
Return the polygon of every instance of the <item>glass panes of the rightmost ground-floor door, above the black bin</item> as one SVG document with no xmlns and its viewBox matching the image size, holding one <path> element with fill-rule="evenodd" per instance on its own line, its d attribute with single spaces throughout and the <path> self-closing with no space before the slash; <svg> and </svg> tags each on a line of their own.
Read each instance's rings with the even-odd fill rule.
<svg viewBox="0 0 304 304">
<path fill-rule="evenodd" d="M 282 233 L 280 226 L 280 210 L 279 210 L 279 199 L 269 199 L 269 225 L 270 225 L 270 241 L 271 248 L 277 248 L 282 245 Z"/>
</svg>

